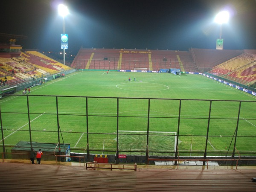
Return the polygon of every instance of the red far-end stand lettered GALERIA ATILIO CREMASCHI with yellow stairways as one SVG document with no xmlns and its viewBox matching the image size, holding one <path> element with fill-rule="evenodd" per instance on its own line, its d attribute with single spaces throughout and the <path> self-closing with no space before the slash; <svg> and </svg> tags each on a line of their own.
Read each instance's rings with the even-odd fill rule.
<svg viewBox="0 0 256 192">
<path fill-rule="evenodd" d="M 185 67 L 188 66 L 186 69 L 188 71 L 197 70 L 191 53 L 187 51 L 81 48 L 71 67 L 102 70 L 133 70 L 134 68 L 159 70 L 180 69 L 181 63 Z"/>
</svg>

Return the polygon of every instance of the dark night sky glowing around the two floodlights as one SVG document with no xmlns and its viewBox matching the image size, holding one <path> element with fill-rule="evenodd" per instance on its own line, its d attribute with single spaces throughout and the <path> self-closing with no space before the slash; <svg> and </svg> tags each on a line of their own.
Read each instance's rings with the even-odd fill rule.
<svg viewBox="0 0 256 192">
<path fill-rule="evenodd" d="M 175 3 L 176 2 L 176 3 Z M 215 49 L 215 15 L 228 9 L 222 25 L 224 49 L 256 49 L 256 0 L 5 0 L 0 32 L 26 35 L 26 49 L 60 51 L 65 3 L 69 51 L 84 48 Z"/>
</svg>

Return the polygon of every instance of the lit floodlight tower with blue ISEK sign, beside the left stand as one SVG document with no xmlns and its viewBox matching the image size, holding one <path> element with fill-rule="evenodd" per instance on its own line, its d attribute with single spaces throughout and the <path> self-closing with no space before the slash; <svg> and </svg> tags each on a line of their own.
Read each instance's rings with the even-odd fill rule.
<svg viewBox="0 0 256 192">
<path fill-rule="evenodd" d="M 63 34 L 61 34 L 61 43 L 66 43 L 68 38 L 67 38 L 67 35 L 65 34 L 65 16 L 68 15 L 68 9 L 67 9 L 67 6 L 64 6 L 63 4 L 60 4 L 58 6 L 58 13 L 59 15 L 61 15 L 63 17 Z M 63 46 L 62 46 L 63 45 Z M 65 49 L 67 49 L 68 44 L 61 44 L 61 49 L 63 49 L 63 64 L 65 65 L 66 64 L 66 61 L 65 61 Z"/>
</svg>

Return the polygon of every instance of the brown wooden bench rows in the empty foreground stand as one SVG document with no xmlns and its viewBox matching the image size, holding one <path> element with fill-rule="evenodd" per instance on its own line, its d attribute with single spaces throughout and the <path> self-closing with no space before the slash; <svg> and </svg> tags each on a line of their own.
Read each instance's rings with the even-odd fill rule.
<svg viewBox="0 0 256 192">
<path fill-rule="evenodd" d="M 254 192 L 255 168 L 86 170 L 79 166 L 0 163 L 0 191 L 214 191 Z"/>
</svg>

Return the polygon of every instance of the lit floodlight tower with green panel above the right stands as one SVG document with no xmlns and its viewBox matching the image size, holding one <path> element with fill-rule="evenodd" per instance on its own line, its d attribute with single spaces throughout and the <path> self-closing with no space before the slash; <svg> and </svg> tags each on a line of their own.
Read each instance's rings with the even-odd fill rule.
<svg viewBox="0 0 256 192">
<path fill-rule="evenodd" d="M 222 24 L 227 23 L 228 20 L 229 20 L 229 12 L 227 11 L 219 12 L 214 19 L 215 23 L 218 23 L 220 25 L 220 37 L 216 41 L 216 49 L 223 49 L 223 39 L 221 39 Z"/>
</svg>

